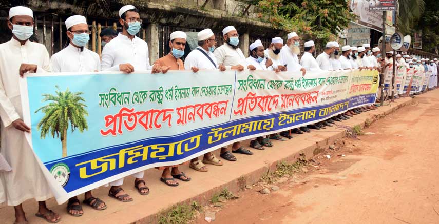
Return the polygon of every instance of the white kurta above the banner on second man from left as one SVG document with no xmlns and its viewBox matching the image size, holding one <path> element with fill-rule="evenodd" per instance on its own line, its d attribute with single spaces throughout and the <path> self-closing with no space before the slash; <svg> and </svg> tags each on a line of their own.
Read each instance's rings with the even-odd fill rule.
<svg viewBox="0 0 439 224">
<path fill-rule="evenodd" d="M 95 72 L 101 71 L 101 59 L 97 53 L 86 48 L 69 45 L 50 58 L 52 72 Z"/>
</svg>

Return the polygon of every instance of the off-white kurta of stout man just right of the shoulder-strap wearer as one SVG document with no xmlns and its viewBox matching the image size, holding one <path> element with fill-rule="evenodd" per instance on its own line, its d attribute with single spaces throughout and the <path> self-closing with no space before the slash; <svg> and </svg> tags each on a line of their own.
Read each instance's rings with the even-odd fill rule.
<svg viewBox="0 0 439 224">
<path fill-rule="evenodd" d="M 201 52 L 200 52 L 201 53 Z M 244 69 L 247 63 L 245 62 L 245 56 L 239 48 L 232 48 L 227 43 L 219 46 L 214 51 L 214 55 L 217 58 L 219 64 L 223 64 L 226 69 L 230 69 L 232 66 L 242 65 Z"/>
</svg>

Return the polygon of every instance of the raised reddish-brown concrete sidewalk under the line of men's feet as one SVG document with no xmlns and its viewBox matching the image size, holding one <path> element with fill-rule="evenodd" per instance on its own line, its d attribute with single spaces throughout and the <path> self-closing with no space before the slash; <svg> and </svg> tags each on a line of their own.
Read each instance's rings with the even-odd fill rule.
<svg viewBox="0 0 439 224">
<path fill-rule="evenodd" d="M 395 100 L 391 106 L 387 105 L 375 111 L 361 113 L 336 124 L 349 127 L 364 126 L 367 119 L 373 122 L 400 107 L 411 104 L 411 102 L 412 98 L 410 97 L 400 98 Z M 108 188 L 101 187 L 94 190 L 93 194 L 95 197 L 104 200 L 108 208 L 103 211 L 96 211 L 88 206 L 83 206 L 84 215 L 81 217 L 68 215 L 66 213 L 66 204 L 57 205 L 53 199 L 48 201 L 48 207 L 62 215 L 60 223 L 156 223 L 157 213 L 176 203 L 196 200 L 204 205 L 212 198 L 214 193 L 221 191 L 223 188 L 236 192 L 247 184 L 257 182 L 261 175 L 268 172 L 268 170 L 274 171 L 279 161 L 294 162 L 302 153 L 307 159 L 310 159 L 333 144 L 336 139 L 345 136 L 346 129 L 337 126 L 327 127 L 327 129 L 312 130 L 311 133 L 303 135 L 294 135 L 294 138 L 288 141 L 273 140 L 273 148 L 266 148 L 264 151 L 252 150 L 254 152 L 252 156 L 235 154 L 238 161 L 229 162 L 222 159 L 224 163 L 222 167 L 206 165 L 209 169 L 206 173 L 197 172 L 188 166 L 182 166 L 181 171 L 192 177 L 192 181 L 179 181 L 180 186 L 178 187 L 166 186 L 159 180 L 161 172 L 156 169 L 149 169 L 145 172 L 145 180 L 151 192 L 149 195 L 142 196 L 138 194 L 133 186 L 133 178 L 127 177 L 123 188 L 134 199 L 132 202 L 119 202 L 110 198 L 107 196 Z M 248 146 L 249 141 L 245 141 L 243 144 Z M 218 153 L 217 150 L 216 154 Z M 84 198 L 81 195 L 79 199 L 82 201 Z M 23 205 L 30 223 L 47 223 L 43 219 L 34 216 L 37 211 L 37 203 L 34 200 L 28 200 Z M 13 223 L 13 208 L 0 206 L 0 220 L 2 220 L 2 223 Z"/>
</svg>

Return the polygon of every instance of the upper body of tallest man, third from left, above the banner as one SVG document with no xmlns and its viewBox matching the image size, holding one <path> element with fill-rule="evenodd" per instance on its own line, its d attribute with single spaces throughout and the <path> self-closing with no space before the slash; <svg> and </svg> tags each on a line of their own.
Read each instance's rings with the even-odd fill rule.
<svg viewBox="0 0 439 224">
<path fill-rule="evenodd" d="M 152 73 L 166 73 L 166 67 L 150 66 L 148 44 L 136 36 L 142 26 L 139 10 L 132 5 L 126 5 L 119 10 L 119 17 L 122 33 L 102 50 L 102 71 L 131 73 L 152 70 Z"/>
</svg>

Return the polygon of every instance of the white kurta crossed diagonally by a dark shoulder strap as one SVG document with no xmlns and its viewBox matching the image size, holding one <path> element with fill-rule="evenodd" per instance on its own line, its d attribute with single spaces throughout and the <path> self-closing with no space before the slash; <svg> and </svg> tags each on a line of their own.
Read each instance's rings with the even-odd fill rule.
<svg viewBox="0 0 439 224">
<path fill-rule="evenodd" d="M 217 58 L 215 57 L 214 53 L 212 53 L 210 51 L 206 51 L 200 46 L 198 46 L 197 48 L 204 51 L 204 53 L 206 53 L 207 56 L 212 59 L 212 61 L 215 63 L 215 65 L 212 64 L 211 60 L 209 60 L 209 58 L 207 58 L 206 55 L 201 53 L 199 50 L 194 49 L 184 59 L 184 69 L 190 70 L 190 68 L 192 68 L 192 67 L 197 67 L 197 68 L 203 69 L 203 70 L 217 69 L 219 65 L 218 65 Z M 244 65 L 242 65 L 242 66 L 244 66 Z"/>
</svg>

